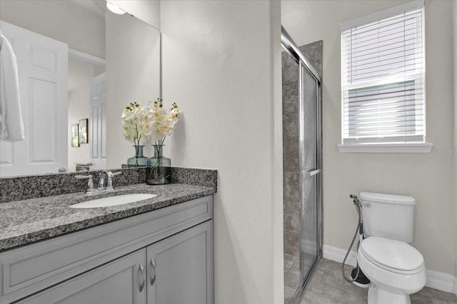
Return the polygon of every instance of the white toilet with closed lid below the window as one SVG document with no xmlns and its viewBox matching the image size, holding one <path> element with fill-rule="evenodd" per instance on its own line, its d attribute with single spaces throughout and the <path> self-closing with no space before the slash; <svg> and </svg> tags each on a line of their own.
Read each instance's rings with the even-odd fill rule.
<svg viewBox="0 0 457 304">
<path fill-rule="evenodd" d="M 410 196 L 360 193 L 365 238 L 357 260 L 371 280 L 368 304 L 411 304 L 409 295 L 426 284 L 426 266 L 413 241 L 414 206 Z"/>
</svg>

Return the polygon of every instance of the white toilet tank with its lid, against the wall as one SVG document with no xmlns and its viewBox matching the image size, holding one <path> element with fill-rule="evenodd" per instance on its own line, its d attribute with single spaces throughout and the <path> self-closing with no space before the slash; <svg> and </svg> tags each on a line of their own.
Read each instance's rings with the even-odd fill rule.
<svg viewBox="0 0 457 304">
<path fill-rule="evenodd" d="M 414 198 L 371 192 L 361 192 L 360 198 L 366 235 L 413 241 Z"/>
</svg>

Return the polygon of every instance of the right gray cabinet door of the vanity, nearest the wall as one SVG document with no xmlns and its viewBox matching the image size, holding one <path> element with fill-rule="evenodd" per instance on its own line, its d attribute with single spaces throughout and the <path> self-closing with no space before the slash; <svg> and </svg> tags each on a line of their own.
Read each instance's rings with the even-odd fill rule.
<svg viewBox="0 0 457 304">
<path fill-rule="evenodd" d="M 211 304 L 213 221 L 147 248 L 149 304 Z"/>
</svg>

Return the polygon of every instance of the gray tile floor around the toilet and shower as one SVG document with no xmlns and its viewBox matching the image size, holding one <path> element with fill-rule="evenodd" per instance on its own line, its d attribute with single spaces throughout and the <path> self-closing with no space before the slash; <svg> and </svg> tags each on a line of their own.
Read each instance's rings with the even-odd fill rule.
<svg viewBox="0 0 457 304">
<path fill-rule="evenodd" d="M 346 266 L 349 274 L 352 266 Z M 287 278 L 287 275 L 286 275 Z M 287 283 L 287 280 L 284 283 Z M 341 263 L 326 260 L 319 262 L 311 282 L 306 287 L 301 304 L 366 304 L 368 288 L 359 288 L 348 283 L 341 275 Z M 293 290 L 285 287 L 285 297 L 291 297 Z M 284 303 L 288 303 L 285 299 Z M 411 295 L 411 304 L 457 304 L 457 295 L 425 287 Z M 386 303 L 388 304 L 388 303 Z"/>
</svg>

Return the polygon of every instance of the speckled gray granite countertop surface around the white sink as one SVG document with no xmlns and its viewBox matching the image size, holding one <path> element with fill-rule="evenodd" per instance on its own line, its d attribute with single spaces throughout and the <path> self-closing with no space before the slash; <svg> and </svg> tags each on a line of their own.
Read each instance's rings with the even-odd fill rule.
<svg viewBox="0 0 457 304">
<path fill-rule="evenodd" d="M 153 193 L 157 196 L 119 206 L 88 209 L 69 208 L 75 203 L 128 193 Z M 214 188 L 204 186 L 182 183 L 149 186 L 142 183 L 122 186 L 114 189 L 114 191 L 93 196 L 87 196 L 85 193 L 70 193 L 0 203 L 0 251 L 154 211 L 214 193 Z"/>
</svg>

